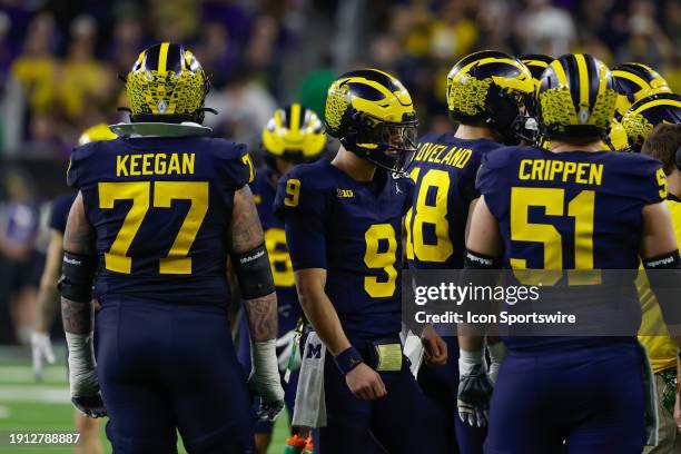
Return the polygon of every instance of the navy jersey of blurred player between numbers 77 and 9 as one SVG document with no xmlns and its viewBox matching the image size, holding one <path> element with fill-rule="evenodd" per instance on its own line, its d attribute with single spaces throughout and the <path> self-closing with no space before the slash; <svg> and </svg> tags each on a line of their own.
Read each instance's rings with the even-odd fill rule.
<svg viewBox="0 0 681 454">
<path fill-rule="evenodd" d="M 277 188 L 273 174 L 265 168 L 257 171 L 250 184 L 253 198 L 258 208 L 258 217 L 265 233 L 265 246 L 269 256 L 272 276 L 277 288 L 277 306 L 279 310 L 278 337 L 296 327 L 303 309 L 298 303 L 293 265 L 286 246 L 284 221 L 274 214 L 274 201 Z"/>
</svg>

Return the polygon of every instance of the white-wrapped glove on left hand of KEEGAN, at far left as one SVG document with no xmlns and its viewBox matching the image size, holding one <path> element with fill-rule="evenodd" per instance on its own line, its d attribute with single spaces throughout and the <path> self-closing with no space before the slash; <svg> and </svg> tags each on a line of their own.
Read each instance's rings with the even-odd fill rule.
<svg viewBox="0 0 681 454">
<path fill-rule="evenodd" d="M 87 417 L 106 416 L 107 409 L 97 381 L 92 332 L 90 334 L 66 333 L 66 338 L 69 347 L 71 402 Z"/>
</svg>

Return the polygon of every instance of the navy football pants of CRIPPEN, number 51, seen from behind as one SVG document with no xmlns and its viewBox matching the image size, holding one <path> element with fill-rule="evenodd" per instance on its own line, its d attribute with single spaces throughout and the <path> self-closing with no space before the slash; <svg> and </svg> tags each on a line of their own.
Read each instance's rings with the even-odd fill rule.
<svg viewBox="0 0 681 454">
<path fill-rule="evenodd" d="M 485 453 L 640 454 L 642 361 L 633 343 L 509 349 L 492 395 Z"/>
</svg>

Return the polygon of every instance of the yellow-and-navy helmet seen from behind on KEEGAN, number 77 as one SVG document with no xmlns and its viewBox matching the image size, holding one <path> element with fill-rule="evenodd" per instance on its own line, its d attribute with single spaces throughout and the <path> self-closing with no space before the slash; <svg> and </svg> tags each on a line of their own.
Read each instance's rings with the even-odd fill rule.
<svg viewBox="0 0 681 454">
<path fill-rule="evenodd" d="M 145 49 L 126 78 L 130 121 L 182 122 L 204 120 L 210 90 L 197 58 L 181 45 L 162 42 Z"/>
</svg>

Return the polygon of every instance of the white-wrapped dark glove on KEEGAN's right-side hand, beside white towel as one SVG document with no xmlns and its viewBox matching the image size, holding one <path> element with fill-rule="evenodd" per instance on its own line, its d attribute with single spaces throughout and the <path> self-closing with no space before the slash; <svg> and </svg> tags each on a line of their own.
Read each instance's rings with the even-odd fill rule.
<svg viewBox="0 0 681 454">
<path fill-rule="evenodd" d="M 250 391 L 260 397 L 257 413 L 260 421 L 275 421 L 284 409 L 284 388 L 277 367 L 276 339 L 254 342 L 250 348 L 253 369 L 248 378 Z"/>
</svg>

